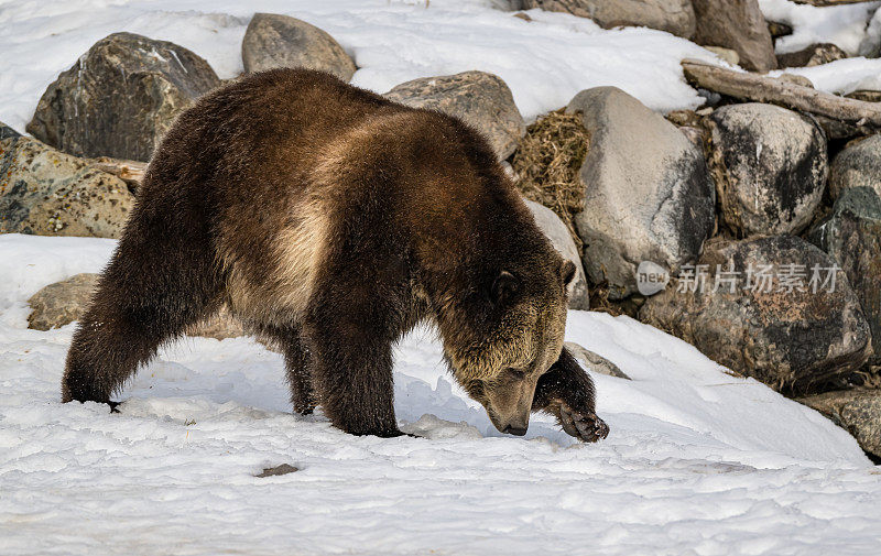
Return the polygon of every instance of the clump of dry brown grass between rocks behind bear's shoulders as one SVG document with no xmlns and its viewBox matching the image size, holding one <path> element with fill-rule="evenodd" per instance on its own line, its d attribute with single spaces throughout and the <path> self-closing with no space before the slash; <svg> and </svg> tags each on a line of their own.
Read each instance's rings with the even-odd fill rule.
<svg viewBox="0 0 881 556">
<path fill-rule="evenodd" d="M 578 251 L 581 240 L 574 217 L 584 209 L 585 192 L 578 171 L 587 155 L 589 135 L 579 115 L 551 112 L 526 129 L 511 165 L 523 195 L 552 209 L 569 229 Z"/>
</svg>

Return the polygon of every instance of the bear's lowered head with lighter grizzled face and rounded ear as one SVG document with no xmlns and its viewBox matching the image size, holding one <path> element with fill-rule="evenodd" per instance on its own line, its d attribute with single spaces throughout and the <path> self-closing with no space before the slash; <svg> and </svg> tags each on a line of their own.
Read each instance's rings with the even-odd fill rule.
<svg viewBox="0 0 881 556">
<path fill-rule="evenodd" d="M 542 237 L 504 258 L 438 319 L 457 382 L 502 433 L 524 435 L 539 379 L 559 358 L 575 265 Z M 458 303 L 457 303 L 458 302 Z"/>
</svg>

